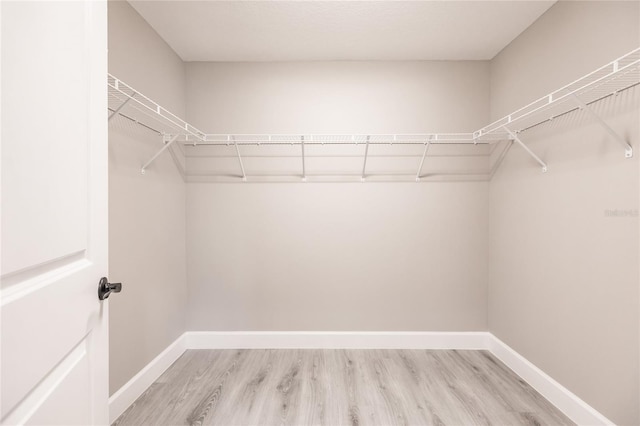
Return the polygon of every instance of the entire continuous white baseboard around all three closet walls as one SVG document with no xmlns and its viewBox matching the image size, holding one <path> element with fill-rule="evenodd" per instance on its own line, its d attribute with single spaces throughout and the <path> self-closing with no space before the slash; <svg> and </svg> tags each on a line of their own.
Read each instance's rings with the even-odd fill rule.
<svg viewBox="0 0 640 426">
<path fill-rule="evenodd" d="M 116 420 L 187 349 L 488 350 L 580 425 L 613 422 L 489 332 L 188 331 L 109 398 Z"/>
</svg>

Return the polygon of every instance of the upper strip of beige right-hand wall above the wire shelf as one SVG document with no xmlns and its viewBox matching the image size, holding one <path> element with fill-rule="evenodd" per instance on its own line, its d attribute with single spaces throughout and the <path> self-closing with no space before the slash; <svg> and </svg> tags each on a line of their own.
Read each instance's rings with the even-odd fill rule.
<svg viewBox="0 0 640 426">
<path fill-rule="evenodd" d="M 496 120 L 638 47 L 637 1 L 559 1 L 491 61 Z"/>
</svg>

